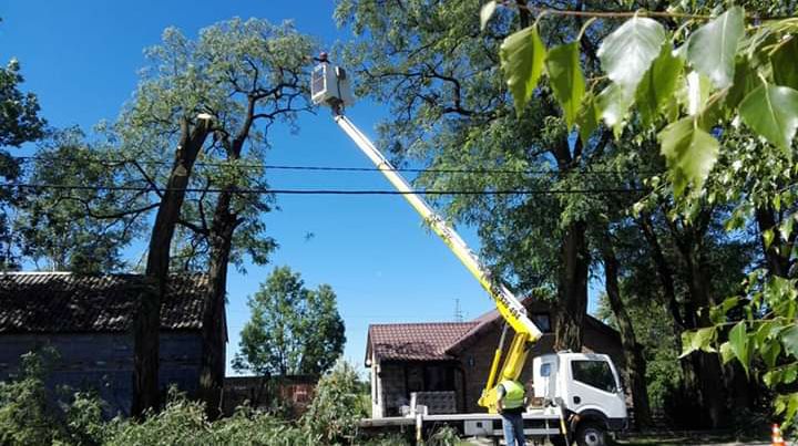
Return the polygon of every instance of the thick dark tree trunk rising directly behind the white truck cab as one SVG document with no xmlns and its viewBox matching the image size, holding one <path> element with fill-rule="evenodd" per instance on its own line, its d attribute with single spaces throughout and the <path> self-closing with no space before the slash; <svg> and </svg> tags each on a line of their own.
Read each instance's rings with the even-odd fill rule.
<svg viewBox="0 0 798 446">
<path fill-rule="evenodd" d="M 557 283 L 557 311 L 554 349 L 582 350 L 582 323 L 587 311 L 590 253 L 584 221 L 574 221 L 565 230 L 561 247 Z"/>
</svg>

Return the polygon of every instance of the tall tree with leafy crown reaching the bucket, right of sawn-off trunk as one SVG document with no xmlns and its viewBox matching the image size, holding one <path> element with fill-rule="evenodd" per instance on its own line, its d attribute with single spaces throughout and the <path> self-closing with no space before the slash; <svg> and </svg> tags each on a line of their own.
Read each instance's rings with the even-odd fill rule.
<svg viewBox="0 0 798 446">
<path fill-rule="evenodd" d="M 224 351 L 214 342 L 223 331 L 224 302 L 227 268 L 231 262 L 241 265 L 243 252 L 255 263 L 266 263 L 274 249 L 274 240 L 266 235 L 259 215 L 272 209 L 273 197 L 239 194 L 238 189 L 267 189 L 264 172 L 252 166 L 263 163 L 267 147 L 267 131 L 275 123 L 294 125 L 299 112 L 310 110 L 308 97 L 308 54 L 314 44 L 307 37 L 290 27 L 274 27 L 267 22 L 250 20 L 231 21 L 206 29 L 201 44 L 205 51 L 225 54 L 214 69 L 226 73 L 227 82 L 241 96 L 235 118 L 231 112 L 223 116 L 214 112 L 215 145 L 219 155 L 217 172 L 201 172 L 198 181 L 221 188 L 215 195 L 209 221 L 204 212 L 196 212 L 198 225 L 181 222 L 202 237 L 207 243 L 207 272 L 212 295 L 206 301 L 203 321 L 203 362 L 200 376 L 201 392 L 215 417 L 221 414 L 221 396 L 224 386 Z M 227 122 L 223 121 L 227 117 Z M 207 187 L 207 186 L 206 186 Z M 202 188 L 202 186 L 200 186 Z M 207 198 L 207 195 L 205 195 Z M 197 210 L 202 196 L 194 204 Z M 213 201 L 213 200 L 209 200 Z M 211 207 L 209 206 L 209 207 Z"/>
</svg>

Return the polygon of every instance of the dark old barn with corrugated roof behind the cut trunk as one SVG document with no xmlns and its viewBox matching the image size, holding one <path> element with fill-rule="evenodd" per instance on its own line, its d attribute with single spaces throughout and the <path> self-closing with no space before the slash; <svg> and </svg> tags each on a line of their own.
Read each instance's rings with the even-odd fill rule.
<svg viewBox="0 0 798 446">
<path fill-rule="evenodd" d="M 52 348 L 58 359 L 49 383 L 94 390 L 109 415 L 129 414 L 133 393 L 132 322 L 146 287 L 139 274 L 0 273 L 0 381 L 17 373 L 20 355 Z M 198 388 L 204 274 L 173 276 L 161 308 L 160 384 L 190 395 Z M 224 315 L 223 315 L 224 317 Z M 223 352 L 225 322 L 213 335 Z M 224 361 L 216 373 L 224 376 Z"/>
</svg>

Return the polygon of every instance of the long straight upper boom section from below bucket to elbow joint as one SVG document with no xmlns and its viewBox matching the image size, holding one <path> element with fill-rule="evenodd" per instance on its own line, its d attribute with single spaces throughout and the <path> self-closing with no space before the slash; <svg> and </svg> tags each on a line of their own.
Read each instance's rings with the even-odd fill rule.
<svg viewBox="0 0 798 446">
<path fill-rule="evenodd" d="M 497 283 L 492 280 L 490 272 L 482 266 L 474 252 L 466 245 L 460 236 L 454 231 L 454 228 L 449 226 L 446 220 L 438 215 L 432 208 L 421 198 L 410 184 L 399 175 L 393 166 L 382 156 L 377 147 L 366 137 L 346 116 L 341 114 L 335 115 L 335 121 L 338 126 L 349 135 L 350 138 L 357 144 L 357 146 L 371 159 L 382 175 L 401 191 L 403 197 L 410 203 L 410 206 L 416 209 L 424 221 L 434 230 L 438 236 L 449 246 L 460 261 L 468 268 L 469 271 L 477 278 L 482 288 L 488 291 L 490 297 L 495 301 L 499 312 L 510 323 L 516 333 L 528 333 L 530 341 L 535 341 L 542 335 L 540 329 L 526 317 L 526 309 L 521 302 L 513 295 L 510 290 L 501 283 Z"/>
</svg>

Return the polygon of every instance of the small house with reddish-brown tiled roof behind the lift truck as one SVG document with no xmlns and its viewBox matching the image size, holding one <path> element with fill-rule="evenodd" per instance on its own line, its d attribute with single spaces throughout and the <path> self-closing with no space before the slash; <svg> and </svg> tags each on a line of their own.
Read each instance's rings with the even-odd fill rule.
<svg viewBox="0 0 798 446">
<path fill-rule="evenodd" d="M 544 332 L 530 351 L 521 380 L 531 386 L 531 359 L 554 352 L 554 318 L 549 304 L 524 300 L 528 314 Z M 490 311 L 468 322 L 390 323 L 369 325 L 366 367 L 371 369 L 371 416 L 401 415 L 412 394 L 430 413 L 484 412 L 477 405 L 499 344 L 504 320 Z M 509 344 L 509 342 L 508 342 Z M 618 333 L 586 317 L 584 351 L 608 354 L 623 365 Z"/>
</svg>

